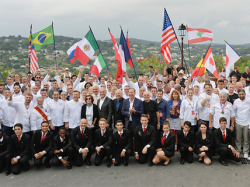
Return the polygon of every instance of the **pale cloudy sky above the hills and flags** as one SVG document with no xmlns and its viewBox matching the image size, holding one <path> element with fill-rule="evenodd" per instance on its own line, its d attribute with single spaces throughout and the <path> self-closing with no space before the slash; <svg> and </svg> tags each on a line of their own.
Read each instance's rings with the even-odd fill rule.
<svg viewBox="0 0 250 187">
<path fill-rule="evenodd" d="M 55 35 L 82 38 L 90 25 L 96 39 L 107 40 L 107 28 L 118 38 L 121 24 L 130 38 L 160 41 L 165 7 L 176 31 L 183 23 L 212 30 L 214 43 L 244 44 L 250 43 L 249 5 L 248 0 L 5 0 L 0 36 L 28 36 L 31 23 L 37 32 L 53 21 Z"/>
</svg>

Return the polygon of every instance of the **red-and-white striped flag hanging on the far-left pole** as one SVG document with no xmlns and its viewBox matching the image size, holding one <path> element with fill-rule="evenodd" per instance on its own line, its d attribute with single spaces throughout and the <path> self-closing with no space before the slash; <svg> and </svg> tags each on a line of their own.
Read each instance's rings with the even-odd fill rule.
<svg viewBox="0 0 250 187">
<path fill-rule="evenodd" d="M 29 58 L 30 58 L 30 71 L 32 73 L 39 68 L 36 57 L 36 50 L 33 44 L 32 27 L 30 27 L 30 37 L 29 37 Z"/>
</svg>

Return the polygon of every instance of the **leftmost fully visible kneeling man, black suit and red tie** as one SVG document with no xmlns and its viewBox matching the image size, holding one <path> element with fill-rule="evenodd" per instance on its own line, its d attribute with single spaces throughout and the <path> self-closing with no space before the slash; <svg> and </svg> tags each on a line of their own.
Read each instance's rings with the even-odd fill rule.
<svg viewBox="0 0 250 187">
<path fill-rule="evenodd" d="M 23 133 L 23 125 L 21 123 L 14 125 L 14 132 L 15 134 L 11 136 L 11 171 L 17 175 L 22 168 L 24 171 L 30 169 L 30 136 Z"/>
</svg>

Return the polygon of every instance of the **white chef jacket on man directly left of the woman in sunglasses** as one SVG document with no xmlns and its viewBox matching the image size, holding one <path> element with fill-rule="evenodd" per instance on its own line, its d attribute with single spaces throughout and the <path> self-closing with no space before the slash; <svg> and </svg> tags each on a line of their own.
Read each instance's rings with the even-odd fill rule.
<svg viewBox="0 0 250 187">
<path fill-rule="evenodd" d="M 77 102 L 75 100 L 71 100 L 65 103 L 63 122 L 68 122 L 70 129 L 79 126 L 82 105 L 83 103 L 79 100 Z"/>
</svg>

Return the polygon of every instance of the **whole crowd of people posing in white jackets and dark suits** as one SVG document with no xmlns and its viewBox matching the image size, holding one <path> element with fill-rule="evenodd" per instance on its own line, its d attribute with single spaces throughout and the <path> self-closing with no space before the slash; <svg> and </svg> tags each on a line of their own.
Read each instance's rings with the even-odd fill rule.
<svg viewBox="0 0 250 187">
<path fill-rule="evenodd" d="M 69 69 L 59 76 L 41 75 L 37 70 L 19 74 L 0 84 L 0 171 L 6 175 L 28 171 L 34 165 L 102 163 L 107 167 L 124 164 L 135 156 L 140 164 L 167 166 L 175 152 L 180 163 L 210 165 L 215 154 L 226 159 L 250 160 L 249 119 L 250 73 L 238 67 L 217 81 L 203 77 L 191 80 L 179 64 L 164 71 L 149 67 L 138 81 L 127 74 L 123 83 L 111 74 L 96 78 Z M 242 153 L 242 154 L 241 154 Z M 43 161 L 44 160 L 44 161 Z"/>
</svg>

